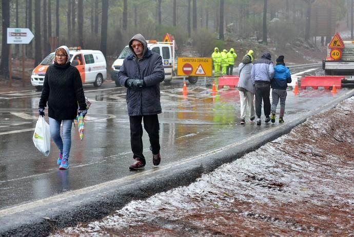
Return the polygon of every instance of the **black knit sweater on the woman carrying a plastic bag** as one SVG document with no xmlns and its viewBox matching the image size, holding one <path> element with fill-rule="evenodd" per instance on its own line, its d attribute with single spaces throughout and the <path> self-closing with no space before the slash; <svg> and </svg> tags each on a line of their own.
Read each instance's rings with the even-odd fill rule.
<svg viewBox="0 0 354 237">
<path fill-rule="evenodd" d="M 70 62 L 48 67 L 38 107 L 44 108 L 47 102 L 48 116 L 56 120 L 75 119 L 77 103 L 80 110 L 86 110 L 80 72 Z"/>
</svg>

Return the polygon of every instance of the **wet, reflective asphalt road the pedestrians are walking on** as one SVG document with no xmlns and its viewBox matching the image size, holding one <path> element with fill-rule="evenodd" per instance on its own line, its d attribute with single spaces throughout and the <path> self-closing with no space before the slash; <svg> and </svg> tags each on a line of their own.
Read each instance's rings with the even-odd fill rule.
<svg viewBox="0 0 354 237">
<path fill-rule="evenodd" d="M 211 84 L 208 79 L 207 84 Z M 40 93 L 34 90 L 0 94 L 0 211 L 27 205 L 30 202 L 88 188 L 111 180 L 144 178 L 144 173 L 167 169 L 193 157 L 218 152 L 253 136 L 271 133 L 284 124 L 254 122 L 239 124 L 238 90 L 221 89 L 211 92 L 204 80 L 188 84 L 188 94 L 182 94 L 182 81 L 161 87 L 163 113 L 159 115 L 162 162 L 153 167 L 149 141 L 144 133 L 145 171 L 131 172 L 129 118 L 125 92 L 114 83 L 102 88 L 85 86 L 85 95 L 92 102 L 86 117 L 85 137 L 81 141 L 77 128 L 72 131 L 70 168 L 58 170 L 58 151 L 52 142 L 48 157 L 41 155 L 32 142 L 37 120 Z M 340 89 L 306 90 L 298 94 L 288 90 L 285 122 L 297 121 L 305 114 L 316 112 L 333 100 L 351 93 Z M 279 105 L 278 105 L 279 112 Z M 47 116 L 46 116 L 47 117 Z M 278 119 L 278 118 L 277 118 Z M 246 118 L 247 121 L 247 118 Z M 151 173 L 151 172 L 150 172 Z M 142 175 L 137 175 L 142 174 Z M 140 180 L 141 181 L 141 180 Z"/>
</svg>

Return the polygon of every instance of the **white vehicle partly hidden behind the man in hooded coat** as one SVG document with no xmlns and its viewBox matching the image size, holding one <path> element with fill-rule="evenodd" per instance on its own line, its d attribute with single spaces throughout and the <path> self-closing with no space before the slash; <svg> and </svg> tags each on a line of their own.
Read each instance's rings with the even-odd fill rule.
<svg viewBox="0 0 354 237">
<path fill-rule="evenodd" d="M 165 69 L 165 83 L 170 83 L 172 79 L 183 79 L 183 76 L 177 76 L 177 59 L 175 58 L 175 41 L 172 42 L 157 42 L 155 40 L 147 40 L 148 48 L 153 52 L 159 53 L 162 57 L 162 63 Z M 123 60 L 131 53 L 128 45 L 124 47 L 118 58 L 112 64 L 111 79 L 115 81 L 116 86 L 120 86 L 117 79 L 117 74 L 121 69 Z M 186 79 L 191 84 L 198 81 L 198 77 L 188 77 Z"/>
</svg>

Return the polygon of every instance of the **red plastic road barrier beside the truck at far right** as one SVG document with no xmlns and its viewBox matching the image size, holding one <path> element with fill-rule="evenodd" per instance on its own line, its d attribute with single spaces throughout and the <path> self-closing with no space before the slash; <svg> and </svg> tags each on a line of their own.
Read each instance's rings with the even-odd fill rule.
<svg viewBox="0 0 354 237">
<path fill-rule="evenodd" d="M 344 76 L 305 76 L 301 78 L 301 89 L 311 86 L 312 89 L 317 89 L 319 86 L 329 89 L 336 85 L 337 89 L 342 88 L 342 79 Z"/>
</svg>

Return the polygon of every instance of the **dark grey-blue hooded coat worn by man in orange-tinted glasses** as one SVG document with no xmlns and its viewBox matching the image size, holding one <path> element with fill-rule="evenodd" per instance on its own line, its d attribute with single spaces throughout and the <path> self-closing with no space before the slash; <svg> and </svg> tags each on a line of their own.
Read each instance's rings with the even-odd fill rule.
<svg viewBox="0 0 354 237">
<path fill-rule="evenodd" d="M 144 46 L 143 58 L 138 60 L 131 44 L 134 40 Z M 129 54 L 118 73 L 121 85 L 126 85 L 128 79 L 139 78 L 144 80 L 143 87 L 128 87 L 127 107 L 129 116 L 160 114 L 160 82 L 165 79 L 164 66 L 160 54 L 152 52 L 142 34 L 135 34 L 129 41 Z"/>
</svg>

